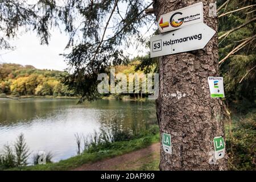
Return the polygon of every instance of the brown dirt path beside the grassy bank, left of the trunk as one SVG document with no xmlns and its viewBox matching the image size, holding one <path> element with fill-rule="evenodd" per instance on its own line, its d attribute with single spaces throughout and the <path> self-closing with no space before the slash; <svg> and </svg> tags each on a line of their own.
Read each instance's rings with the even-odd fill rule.
<svg viewBox="0 0 256 182">
<path fill-rule="evenodd" d="M 111 159 L 104 159 L 92 164 L 84 164 L 73 170 L 136 170 L 156 169 L 159 162 L 160 143 L 154 143 L 147 148 L 130 152 Z"/>
</svg>

